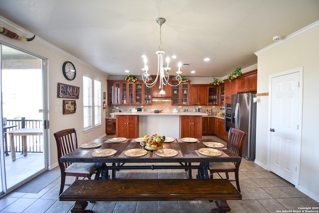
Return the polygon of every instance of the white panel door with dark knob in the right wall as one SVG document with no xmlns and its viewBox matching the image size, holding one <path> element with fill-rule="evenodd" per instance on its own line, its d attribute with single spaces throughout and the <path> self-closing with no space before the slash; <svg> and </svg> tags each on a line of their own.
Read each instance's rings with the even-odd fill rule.
<svg viewBox="0 0 319 213">
<path fill-rule="evenodd" d="M 295 186 L 301 148 L 299 76 L 294 72 L 271 80 L 270 170 Z"/>
</svg>

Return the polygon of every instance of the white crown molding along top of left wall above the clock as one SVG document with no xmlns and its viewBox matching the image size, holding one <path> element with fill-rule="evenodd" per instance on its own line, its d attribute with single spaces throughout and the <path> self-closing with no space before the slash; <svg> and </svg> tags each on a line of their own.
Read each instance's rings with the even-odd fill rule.
<svg viewBox="0 0 319 213">
<path fill-rule="evenodd" d="M 6 28 L 6 29 L 8 29 L 8 30 L 10 30 L 12 32 L 15 32 L 15 33 L 17 33 L 17 34 L 19 34 L 19 35 L 21 35 L 23 37 L 32 37 L 34 35 L 33 33 L 27 31 L 26 29 L 18 26 L 17 24 L 9 21 L 8 19 L 6 19 L 6 18 L 4 18 L 2 16 L 0 16 L 0 25 L 2 25 L 4 28 Z M 48 41 L 44 40 L 43 38 L 41 38 L 41 37 L 39 37 L 37 35 L 35 35 L 35 38 L 32 40 L 32 42 L 37 42 L 37 43 L 39 43 L 39 44 L 41 44 L 41 45 L 43 45 L 43 46 L 55 51 L 55 52 L 58 52 L 59 54 L 62 54 L 64 56 L 66 56 L 66 57 L 71 58 L 72 60 L 74 60 L 74 61 L 76 61 L 76 62 L 78 62 L 78 63 L 80 63 L 80 64 L 82 64 L 82 65 L 84 65 L 84 66 L 86 66 L 88 68 L 91 68 L 91 69 L 93 69 L 93 70 L 95 70 L 97 72 L 100 72 L 100 73 L 104 74 L 104 75 L 108 75 L 107 73 L 95 68 L 94 66 L 86 63 L 85 61 L 75 57 L 74 55 L 71 55 L 70 53 L 68 53 L 68 52 L 64 51 L 63 49 L 61 49 L 61 48 L 49 43 Z"/>
</svg>

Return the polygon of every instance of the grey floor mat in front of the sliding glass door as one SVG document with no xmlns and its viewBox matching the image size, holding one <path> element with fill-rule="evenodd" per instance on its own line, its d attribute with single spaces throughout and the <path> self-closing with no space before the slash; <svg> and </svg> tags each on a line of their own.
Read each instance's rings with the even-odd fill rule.
<svg viewBox="0 0 319 213">
<path fill-rule="evenodd" d="M 57 178 L 61 176 L 60 170 L 58 171 L 45 171 L 41 175 L 35 177 L 31 181 L 23 184 L 21 187 L 14 190 L 14 192 L 21 193 L 38 193 L 43 190 L 46 186 L 51 184 Z"/>
</svg>

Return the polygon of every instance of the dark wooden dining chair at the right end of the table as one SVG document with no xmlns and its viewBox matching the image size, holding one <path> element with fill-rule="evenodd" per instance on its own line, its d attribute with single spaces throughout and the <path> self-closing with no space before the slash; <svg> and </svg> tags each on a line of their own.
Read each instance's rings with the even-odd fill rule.
<svg viewBox="0 0 319 213">
<path fill-rule="evenodd" d="M 228 132 L 228 142 L 227 142 L 227 149 L 238 155 L 239 157 L 242 156 L 243 153 L 243 144 L 246 136 L 246 132 L 243 132 L 239 129 L 230 128 Z M 210 179 L 213 179 L 213 174 L 217 173 L 221 179 L 221 175 L 219 173 L 225 173 L 227 180 L 229 180 L 229 172 L 235 173 L 235 180 L 229 181 L 236 181 L 237 190 L 240 192 L 239 187 L 239 179 L 238 179 L 238 172 L 239 172 L 239 165 L 241 162 L 211 162 L 209 163 L 209 172 L 210 172 Z"/>
</svg>

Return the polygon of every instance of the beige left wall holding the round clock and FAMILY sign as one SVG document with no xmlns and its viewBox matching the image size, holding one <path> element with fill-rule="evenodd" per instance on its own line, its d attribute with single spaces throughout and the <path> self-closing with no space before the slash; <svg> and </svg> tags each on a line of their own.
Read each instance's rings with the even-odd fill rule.
<svg viewBox="0 0 319 213">
<path fill-rule="evenodd" d="M 25 32 L 24 29 L 15 25 L 14 23 L 2 18 L 0 16 L 0 25 L 9 29 L 12 27 L 17 34 L 21 35 Z M 23 35 L 23 34 L 22 34 Z M 32 36 L 32 35 L 31 35 Z M 30 36 L 25 36 L 30 37 Z M 35 37 L 33 41 L 25 42 L 11 39 L 7 36 L 0 35 L 0 42 L 4 44 L 18 47 L 22 50 L 39 55 L 47 59 L 47 94 L 48 94 L 48 148 L 49 159 L 48 168 L 58 166 L 57 148 L 53 133 L 66 128 L 75 128 L 77 132 L 78 144 L 89 142 L 95 138 L 103 137 L 105 135 L 105 119 L 104 111 L 102 112 L 102 125 L 93 128 L 90 131 L 83 131 L 83 98 L 82 98 L 82 76 L 88 75 L 92 79 L 99 79 L 101 81 L 102 92 L 107 92 L 107 75 L 89 64 L 75 58 L 74 56 L 64 52 L 63 50 L 47 43 L 39 37 Z M 73 81 L 68 81 L 62 74 L 62 64 L 64 61 L 71 61 L 76 68 L 76 78 Z M 32 83 L 32 82 L 30 82 Z M 80 97 L 76 100 L 77 109 L 75 114 L 63 115 L 62 112 L 54 112 L 54 107 L 62 107 L 62 98 L 57 98 L 57 83 L 64 83 L 80 87 Z M 102 96 L 103 97 L 103 96 Z M 103 100 L 102 100 L 103 102 Z M 102 109 L 103 110 L 103 109 Z"/>
</svg>

